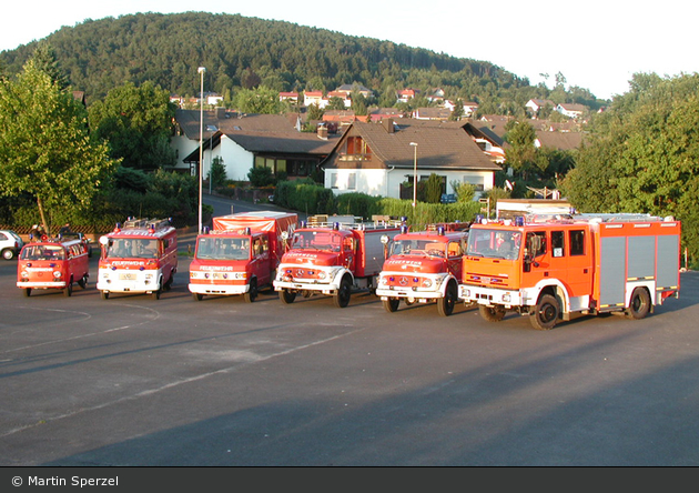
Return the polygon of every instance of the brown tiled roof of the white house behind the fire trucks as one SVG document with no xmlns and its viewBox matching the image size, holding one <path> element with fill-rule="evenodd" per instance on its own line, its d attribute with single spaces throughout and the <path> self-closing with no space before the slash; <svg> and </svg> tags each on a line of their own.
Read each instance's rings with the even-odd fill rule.
<svg viewBox="0 0 699 493">
<path fill-rule="evenodd" d="M 392 130 L 393 127 L 393 130 Z M 337 149 L 347 137 L 362 137 L 386 168 L 413 169 L 417 143 L 417 164 L 421 170 L 486 170 L 497 171 L 500 167 L 493 163 L 480 150 L 473 138 L 464 130 L 463 122 L 421 122 L 393 120 L 381 123 L 356 121 L 345 131 L 342 140 L 326 160 L 326 168 L 335 168 L 332 162 Z"/>
</svg>

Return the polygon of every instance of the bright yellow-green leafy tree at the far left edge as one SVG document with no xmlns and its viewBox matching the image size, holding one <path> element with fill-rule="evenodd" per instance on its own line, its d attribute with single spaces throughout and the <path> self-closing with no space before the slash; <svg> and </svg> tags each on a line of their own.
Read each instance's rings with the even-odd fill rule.
<svg viewBox="0 0 699 493">
<path fill-rule="evenodd" d="M 31 195 L 49 234 L 47 212 L 88 209 L 118 165 L 87 121 L 84 107 L 33 60 L 16 81 L 0 82 L 0 192 Z"/>
</svg>

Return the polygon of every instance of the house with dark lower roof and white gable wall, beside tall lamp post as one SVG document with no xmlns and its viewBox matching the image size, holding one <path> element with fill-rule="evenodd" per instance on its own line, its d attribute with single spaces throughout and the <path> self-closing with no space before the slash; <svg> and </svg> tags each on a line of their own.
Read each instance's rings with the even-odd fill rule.
<svg viewBox="0 0 699 493">
<path fill-rule="evenodd" d="M 200 161 L 200 111 L 178 110 L 176 134 L 171 140 L 178 153 L 174 171 L 196 175 Z M 308 177 L 318 170 L 336 143 L 327 132 L 301 132 L 298 115 L 243 114 L 219 108 L 204 111 L 202 175 L 220 159 L 231 180 L 247 180 L 253 167 L 267 167 L 290 179 Z M 326 129 L 324 129 L 326 130 Z"/>
</svg>

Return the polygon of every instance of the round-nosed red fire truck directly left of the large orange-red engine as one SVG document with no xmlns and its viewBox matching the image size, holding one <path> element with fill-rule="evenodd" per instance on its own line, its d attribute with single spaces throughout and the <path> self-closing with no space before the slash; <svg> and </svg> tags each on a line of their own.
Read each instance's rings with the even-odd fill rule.
<svg viewBox="0 0 699 493">
<path fill-rule="evenodd" d="M 437 302 L 437 312 L 448 316 L 458 301 L 462 256 L 468 223 L 433 224 L 426 231 L 407 231 L 394 238 L 384 262 L 376 295 L 384 309 L 395 312 L 406 304 Z"/>
</svg>

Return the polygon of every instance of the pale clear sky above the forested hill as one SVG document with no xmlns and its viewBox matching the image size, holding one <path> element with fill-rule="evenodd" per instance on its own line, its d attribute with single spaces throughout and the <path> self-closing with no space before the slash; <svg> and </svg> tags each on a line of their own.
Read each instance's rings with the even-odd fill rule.
<svg viewBox="0 0 699 493">
<path fill-rule="evenodd" d="M 240 13 L 393 41 L 487 61 L 528 78 L 531 84 L 549 88 L 561 73 L 566 88 L 588 89 L 601 99 L 628 92 L 635 73 L 676 77 L 699 71 L 695 54 L 699 42 L 693 36 L 699 3 L 686 0 L 210 0 L 201 4 L 191 0 L 60 0 L 31 7 L 14 1 L 2 7 L 0 51 L 43 39 L 85 19 L 186 11 Z"/>
</svg>

